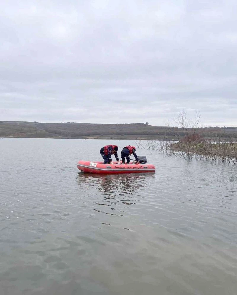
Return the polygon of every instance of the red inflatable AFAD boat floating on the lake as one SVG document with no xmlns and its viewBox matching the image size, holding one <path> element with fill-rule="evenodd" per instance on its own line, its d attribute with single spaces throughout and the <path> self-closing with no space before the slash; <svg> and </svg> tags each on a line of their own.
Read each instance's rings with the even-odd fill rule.
<svg viewBox="0 0 237 295">
<path fill-rule="evenodd" d="M 103 162 L 79 161 L 77 168 L 85 173 L 121 174 L 155 172 L 152 164 L 104 164 Z"/>
</svg>

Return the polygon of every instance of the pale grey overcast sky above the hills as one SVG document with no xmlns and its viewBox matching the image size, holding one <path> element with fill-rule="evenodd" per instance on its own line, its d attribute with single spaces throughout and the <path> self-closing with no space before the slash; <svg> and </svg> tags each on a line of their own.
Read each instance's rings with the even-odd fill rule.
<svg viewBox="0 0 237 295">
<path fill-rule="evenodd" d="M 4 1 L 0 120 L 237 126 L 237 1 Z"/>
</svg>

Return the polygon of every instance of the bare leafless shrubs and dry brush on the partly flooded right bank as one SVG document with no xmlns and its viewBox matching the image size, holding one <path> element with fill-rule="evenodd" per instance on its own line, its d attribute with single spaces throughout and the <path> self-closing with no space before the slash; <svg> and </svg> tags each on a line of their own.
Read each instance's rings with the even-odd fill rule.
<svg viewBox="0 0 237 295">
<path fill-rule="evenodd" d="M 167 122 L 167 133 L 172 134 L 177 141 L 167 140 L 166 133 L 161 141 L 147 140 L 138 142 L 139 146 L 148 150 L 156 150 L 166 155 L 174 155 L 183 158 L 196 158 L 202 161 L 222 161 L 237 164 L 237 139 L 235 134 L 228 135 L 226 138 L 209 134 L 209 138 L 197 133 L 197 126 L 200 121 L 200 114 L 197 111 L 196 117 L 192 121 L 186 117 L 185 111 L 181 111 L 174 120 L 182 132 L 177 132 L 177 127 L 171 127 Z M 225 132 L 224 132 L 225 134 Z M 204 134 L 206 136 L 206 134 Z M 138 147 L 139 147 L 138 146 Z"/>
</svg>

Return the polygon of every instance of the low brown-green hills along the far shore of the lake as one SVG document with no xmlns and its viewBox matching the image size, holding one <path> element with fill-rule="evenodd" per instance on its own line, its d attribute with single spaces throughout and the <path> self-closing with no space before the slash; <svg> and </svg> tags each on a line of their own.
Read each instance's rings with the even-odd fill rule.
<svg viewBox="0 0 237 295">
<path fill-rule="evenodd" d="M 175 132 L 182 135 L 181 128 Z M 197 128 L 204 137 L 237 138 L 237 127 Z M 90 124 L 90 123 L 40 123 L 26 121 L 0 121 L 0 137 L 28 138 L 97 138 L 161 140 L 165 136 L 175 140 L 166 126 L 151 126 L 145 123 Z"/>
</svg>

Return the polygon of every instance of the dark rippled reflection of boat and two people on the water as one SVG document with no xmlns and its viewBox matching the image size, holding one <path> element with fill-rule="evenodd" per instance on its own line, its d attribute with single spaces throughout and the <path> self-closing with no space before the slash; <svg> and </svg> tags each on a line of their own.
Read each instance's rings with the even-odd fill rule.
<svg viewBox="0 0 237 295">
<path fill-rule="evenodd" d="M 94 187 L 104 195 L 102 201 L 109 203 L 97 202 L 97 205 L 111 206 L 116 205 L 119 201 L 125 205 L 132 205 L 135 204 L 134 197 L 136 197 L 137 192 L 144 189 L 150 183 L 148 179 L 153 176 L 153 173 L 96 175 L 79 172 L 76 181 L 79 185 L 86 181 L 87 188 L 90 187 L 89 183 L 92 182 Z M 126 196 L 128 198 L 124 198 Z M 113 209 L 115 208 L 111 208 L 111 210 Z"/>
</svg>

